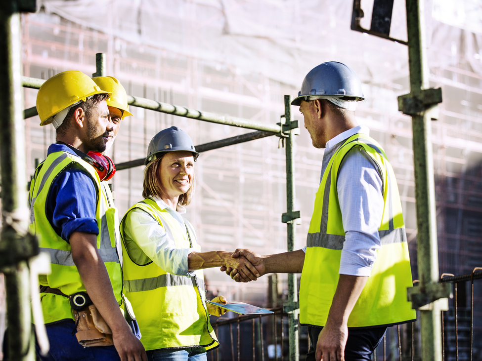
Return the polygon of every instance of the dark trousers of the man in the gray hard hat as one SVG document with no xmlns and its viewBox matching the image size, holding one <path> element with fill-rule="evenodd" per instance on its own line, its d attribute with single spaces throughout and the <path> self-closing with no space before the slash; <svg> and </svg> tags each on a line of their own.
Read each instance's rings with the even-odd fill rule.
<svg viewBox="0 0 482 361">
<path fill-rule="evenodd" d="M 310 345 L 307 361 L 315 360 L 316 343 L 323 327 L 308 326 Z M 348 340 L 345 347 L 346 361 L 371 361 L 371 355 L 382 341 L 387 330 L 386 326 L 370 328 L 349 328 Z"/>
</svg>

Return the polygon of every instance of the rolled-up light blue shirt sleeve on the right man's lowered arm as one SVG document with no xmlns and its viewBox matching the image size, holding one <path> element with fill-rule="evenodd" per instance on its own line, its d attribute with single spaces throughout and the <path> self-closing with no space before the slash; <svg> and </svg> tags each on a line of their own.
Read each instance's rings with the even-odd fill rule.
<svg viewBox="0 0 482 361">
<path fill-rule="evenodd" d="M 339 273 L 370 276 L 381 248 L 383 182 L 376 163 L 362 148 L 355 147 L 346 156 L 337 189 L 345 230 Z"/>
</svg>

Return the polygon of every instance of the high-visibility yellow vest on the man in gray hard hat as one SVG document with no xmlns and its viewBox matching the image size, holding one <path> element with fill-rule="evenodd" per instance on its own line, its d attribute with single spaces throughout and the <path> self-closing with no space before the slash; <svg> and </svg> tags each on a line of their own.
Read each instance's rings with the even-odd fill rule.
<svg viewBox="0 0 482 361">
<path fill-rule="evenodd" d="M 308 230 L 307 252 L 300 284 L 300 322 L 324 326 L 339 280 L 345 241 L 337 194 L 340 165 L 353 147 L 361 147 L 378 167 L 383 182 L 384 209 L 378 229 L 381 249 L 356 302 L 348 327 L 393 325 L 416 318 L 407 301 L 412 286 L 408 246 L 394 171 L 375 140 L 355 134 L 332 153 L 316 193 Z"/>
</svg>

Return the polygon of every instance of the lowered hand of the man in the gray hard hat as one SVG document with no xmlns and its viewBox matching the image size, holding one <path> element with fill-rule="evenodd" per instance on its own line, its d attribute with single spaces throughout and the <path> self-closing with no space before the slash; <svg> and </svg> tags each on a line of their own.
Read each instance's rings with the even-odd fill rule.
<svg viewBox="0 0 482 361">
<path fill-rule="evenodd" d="M 345 361 L 345 346 L 348 339 L 347 325 L 326 324 L 318 336 L 315 360 Z"/>
</svg>

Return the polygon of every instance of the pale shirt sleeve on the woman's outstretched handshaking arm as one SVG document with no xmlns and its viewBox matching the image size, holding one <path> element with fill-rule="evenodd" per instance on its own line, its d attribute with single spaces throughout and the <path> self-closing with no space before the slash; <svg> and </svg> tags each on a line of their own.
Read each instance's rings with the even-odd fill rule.
<svg viewBox="0 0 482 361">
<path fill-rule="evenodd" d="M 134 262 L 146 264 L 150 260 L 167 273 L 194 276 L 187 259 L 194 248 L 177 248 L 169 233 L 143 210 L 131 210 L 124 222 L 124 241 Z"/>
</svg>

